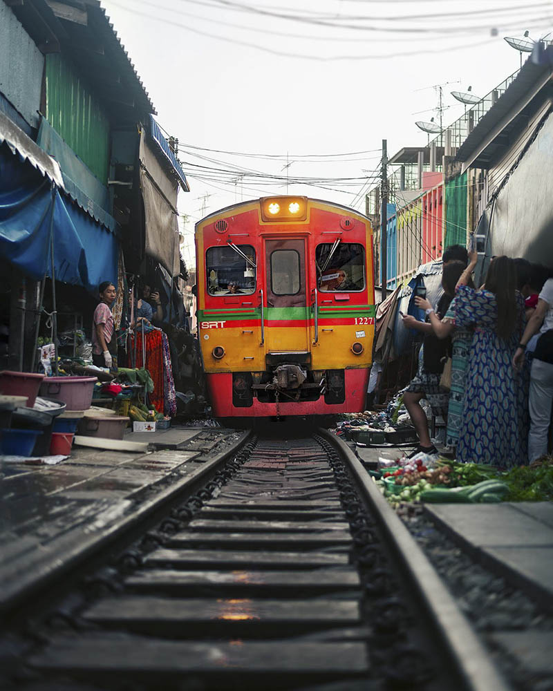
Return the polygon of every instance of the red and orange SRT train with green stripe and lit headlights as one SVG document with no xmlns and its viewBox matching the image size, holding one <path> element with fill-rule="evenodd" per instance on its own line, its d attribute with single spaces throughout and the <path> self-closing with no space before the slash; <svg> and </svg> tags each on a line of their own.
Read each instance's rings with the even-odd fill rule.
<svg viewBox="0 0 553 691">
<path fill-rule="evenodd" d="M 373 233 L 353 209 L 297 196 L 196 225 L 198 339 L 217 417 L 363 410 Z"/>
</svg>

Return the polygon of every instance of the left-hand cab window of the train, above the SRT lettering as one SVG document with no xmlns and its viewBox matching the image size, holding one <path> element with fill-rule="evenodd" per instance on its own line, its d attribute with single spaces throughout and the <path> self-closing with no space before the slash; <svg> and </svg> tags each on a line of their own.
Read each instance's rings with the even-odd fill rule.
<svg viewBox="0 0 553 691">
<path fill-rule="evenodd" d="M 209 295 L 252 294 L 256 261 L 251 245 L 209 247 L 205 253 Z"/>
</svg>

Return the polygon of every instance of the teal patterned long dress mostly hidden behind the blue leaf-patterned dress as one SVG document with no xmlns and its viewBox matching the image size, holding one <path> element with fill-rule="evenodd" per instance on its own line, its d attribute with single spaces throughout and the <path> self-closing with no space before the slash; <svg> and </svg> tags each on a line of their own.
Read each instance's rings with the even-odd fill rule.
<svg viewBox="0 0 553 691">
<path fill-rule="evenodd" d="M 455 299 L 449 305 L 444 322 L 455 323 Z M 465 400 L 467 365 L 471 350 L 474 330 L 456 327 L 451 334 L 451 389 L 447 408 L 447 446 L 457 446 L 459 430 L 462 423 L 462 406 Z"/>
</svg>

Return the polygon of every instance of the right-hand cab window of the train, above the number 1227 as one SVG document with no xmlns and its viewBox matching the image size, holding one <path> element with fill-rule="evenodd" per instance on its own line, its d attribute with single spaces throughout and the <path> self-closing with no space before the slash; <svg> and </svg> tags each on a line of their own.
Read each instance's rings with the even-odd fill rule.
<svg viewBox="0 0 553 691">
<path fill-rule="evenodd" d="M 315 249 L 317 285 L 328 292 L 352 292 L 365 287 L 365 249 L 358 243 L 324 243 Z"/>
</svg>

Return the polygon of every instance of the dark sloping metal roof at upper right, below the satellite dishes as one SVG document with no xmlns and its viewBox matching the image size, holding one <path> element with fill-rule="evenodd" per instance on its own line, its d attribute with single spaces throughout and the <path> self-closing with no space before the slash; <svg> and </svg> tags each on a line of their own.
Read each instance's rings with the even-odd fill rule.
<svg viewBox="0 0 553 691">
<path fill-rule="evenodd" d="M 553 46 L 543 51 L 540 64 L 534 63 L 532 57 L 525 62 L 514 82 L 460 146 L 456 158 L 465 162 L 464 169 L 471 164 L 475 167 L 487 167 L 479 157 L 547 83 L 552 75 L 552 64 Z M 491 154 L 491 151 L 488 153 Z"/>
</svg>

